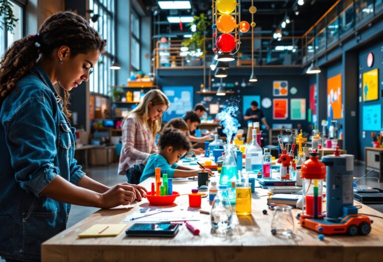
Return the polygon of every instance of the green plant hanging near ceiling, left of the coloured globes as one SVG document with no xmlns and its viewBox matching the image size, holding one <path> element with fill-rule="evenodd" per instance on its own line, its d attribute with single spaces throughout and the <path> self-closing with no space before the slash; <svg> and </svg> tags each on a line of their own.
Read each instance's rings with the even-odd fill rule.
<svg viewBox="0 0 383 262">
<path fill-rule="evenodd" d="M 200 49 L 203 50 L 203 43 L 205 40 L 205 33 L 207 30 L 207 27 L 210 26 L 210 21 L 207 20 L 207 17 L 204 13 L 201 13 L 198 15 L 193 16 L 193 21 L 188 24 L 188 26 L 192 26 L 195 24 L 195 32 L 192 33 L 192 37 L 185 39 L 182 42 L 183 46 L 189 47 L 189 50 L 196 50 Z M 205 53 L 205 50 L 203 50 L 203 55 Z M 202 55 L 202 56 L 203 56 Z"/>
</svg>

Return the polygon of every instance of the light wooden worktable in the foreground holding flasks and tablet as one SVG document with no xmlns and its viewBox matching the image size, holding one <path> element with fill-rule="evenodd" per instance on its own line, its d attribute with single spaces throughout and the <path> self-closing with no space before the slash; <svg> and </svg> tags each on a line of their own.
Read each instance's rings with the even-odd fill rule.
<svg viewBox="0 0 383 262">
<path fill-rule="evenodd" d="M 154 179 L 142 183 L 149 188 Z M 196 181 L 174 181 L 174 190 L 188 193 L 197 186 Z M 185 227 L 174 238 L 126 237 L 122 232 L 115 238 L 77 239 L 77 235 L 94 224 L 123 223 L 127 214 L 148 207 L 146 200 L 135 207 L 100 210 L 80 223 L 65 230 L 41 247 L 42 261 L 151 261 L 151 262 L 380 262 L 383 256 L 383 220 L 373 218 L 368 236 L 326 236 L 318 240 L 318 233 L 302 228 L 295 221 L 295 239 L 281 239 L 271 235 L 273 211 L 267 215 L 267 191 L 257 188 L 252 194 L 252 215 L 233 216 L 232 230 L 219 234 L 211 229 L 210 216 L 199 214 L 200 221 L 192 222 L 200 230 L 193 236 Z M 188 207 L 188 197 L 176 200 Z M 382 213 L 361 205 L 360 213 L 383 216 Z M 207 199 L 202 207 L 209 208 Z M 293 210 L 294 217 L 299 213 Z M 129 226 L 132 223 L 127 223 Z M 125 231 L 125 230 L 124 230 Z"/>
</svg>

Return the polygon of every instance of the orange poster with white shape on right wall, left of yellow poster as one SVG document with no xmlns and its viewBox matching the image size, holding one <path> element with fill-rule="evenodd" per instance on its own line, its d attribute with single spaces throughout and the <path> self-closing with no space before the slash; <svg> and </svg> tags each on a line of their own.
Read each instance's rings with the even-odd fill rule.
<svg viewBox="0 0 383 262">
<path fill-rule="evenodd" d="M 342 74 L 327 79 L 327 117 L 333 119 L 342 119 Z"/>
</svg>

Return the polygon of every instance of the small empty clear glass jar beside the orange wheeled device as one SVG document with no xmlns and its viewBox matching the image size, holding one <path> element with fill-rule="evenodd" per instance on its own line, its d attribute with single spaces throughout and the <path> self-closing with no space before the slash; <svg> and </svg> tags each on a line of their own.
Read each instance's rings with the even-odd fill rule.
<svg viewBox="0 0 383 262">
<path fill-rule="evenodd" d="M 271 220 L 271 232 L 283 238 L 292 238 L 294 232 L 294 219 L 291 207 L 279 205 L 274 208 L 273 219 Z"/>
</svg>

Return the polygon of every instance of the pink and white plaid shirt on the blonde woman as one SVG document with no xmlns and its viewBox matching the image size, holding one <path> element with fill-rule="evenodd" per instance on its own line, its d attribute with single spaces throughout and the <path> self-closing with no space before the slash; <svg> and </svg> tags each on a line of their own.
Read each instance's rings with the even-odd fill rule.
<svg viewBox="0 0 383 262">
<path fill-rule="evenodd" d="M 118 174 L 125 175 L 134 164 L 146 163 L 150 154 L 158 152 L 158 148 L 149 128 L 135 115 L 128 116 L 122 125 L 122 150 Z"/>
</svg>

